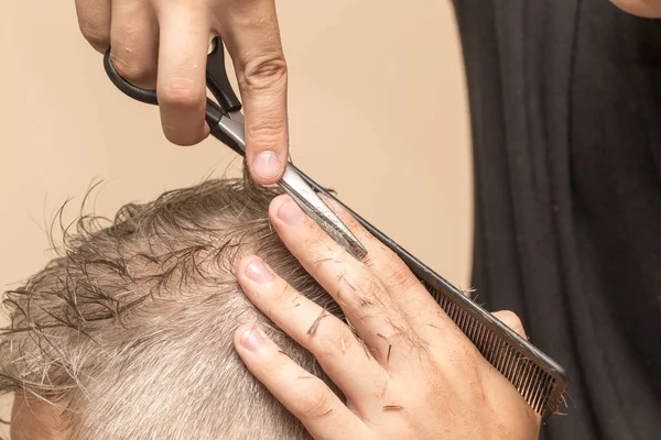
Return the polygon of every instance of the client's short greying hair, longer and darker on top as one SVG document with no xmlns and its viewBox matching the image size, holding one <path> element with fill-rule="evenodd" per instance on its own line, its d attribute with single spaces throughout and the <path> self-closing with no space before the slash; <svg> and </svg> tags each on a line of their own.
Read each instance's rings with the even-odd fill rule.
<svg viewBox="0 0 661 440">
<path fill-rule="evenodd" d="M 57 256 L 4 294 L 0 394 L 61 408 L 71 439 L 310 439 L 232 345 L 237 327 L 256 322 L 330 383 L 236 280 L 239 258 L 257 254 L 342 317 L 272 230 L 279 194 L 245 172 L 126 205 L 107 228 L 83 216 Z"/>
</svg>

